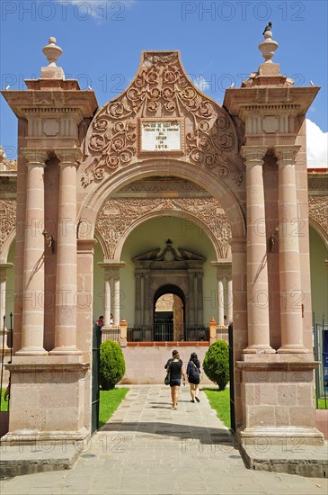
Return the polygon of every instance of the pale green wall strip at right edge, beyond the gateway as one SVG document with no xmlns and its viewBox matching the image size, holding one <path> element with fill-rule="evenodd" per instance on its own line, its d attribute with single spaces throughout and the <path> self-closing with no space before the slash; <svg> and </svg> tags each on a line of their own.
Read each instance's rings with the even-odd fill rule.
<svg viewBox="0 0 328 495">
<path fill-rule="evenodd" d="M 328 249 L 316 230 L 310 227 L 311 292 L 315 323 L 321 323 L 323 318 L 325 322 L 328 321 L 328 266 L 324 266 L 325 259 L 328 259 Z"/>
</svg>

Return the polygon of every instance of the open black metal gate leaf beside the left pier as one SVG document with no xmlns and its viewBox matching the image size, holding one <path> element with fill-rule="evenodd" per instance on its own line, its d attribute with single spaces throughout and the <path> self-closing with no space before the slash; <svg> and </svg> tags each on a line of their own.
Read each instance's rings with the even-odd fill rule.
<svg viewBox="0 0 328 495">
<path fill-rule="evenodd" d="M 91 403 L 91 433 L 99 428 L 99 403 L 100 403 L 100 354 L 102 343 L 102 331 L 98 325 L 93 326 L 93 387 Z"/>
</svg>

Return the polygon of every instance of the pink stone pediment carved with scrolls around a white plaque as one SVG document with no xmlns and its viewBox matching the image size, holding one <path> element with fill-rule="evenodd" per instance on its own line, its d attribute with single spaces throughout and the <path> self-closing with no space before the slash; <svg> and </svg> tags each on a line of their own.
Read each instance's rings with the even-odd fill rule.
<svg viewBox="0 0 328 495">
<path fill-rule="evenodd" d="M 155 139 L 163 136 L 158 132 L 152 135 L 154 148 L 151 144 L 150 148 L 143 147 L 142 121 L 155 128 L 157 124 L 163 128 L 171 126 L 173 132 L 164 138 L 170 141 L 163 141 L 172 143 L 171 146 L 155 146 Z M 181 138 L 178 148 L 176 143 L 173 145 L 173 135 Z M 151 137 L 150 132 L 147 137 Z M 95 115 L 85 139 L 84 154 L 84 186 L 149 157 L 176 156 L 215 169 L 217 175 L 229 176 L 236 184 L 243 178 L 244 165 L 238 155 L 233 121 L 225 109 L 191 83 L 177 51 L 143 52 L 137 76 L 129 88 Z"/>
</svg>

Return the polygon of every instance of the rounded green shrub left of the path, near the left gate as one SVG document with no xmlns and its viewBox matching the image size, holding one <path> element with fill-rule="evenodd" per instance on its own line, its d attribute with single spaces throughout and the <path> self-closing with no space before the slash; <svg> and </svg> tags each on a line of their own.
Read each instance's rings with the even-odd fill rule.
<svg viewBox="0 0 328 495">
<path fill-rule="evenodd" d="M 110 391 L 125 374 L 125 360 L 119 344 L 105 340 L 101 345 L 100 383 L 102 390 Z"/>
</svg>

